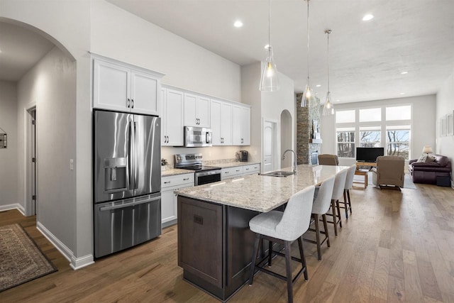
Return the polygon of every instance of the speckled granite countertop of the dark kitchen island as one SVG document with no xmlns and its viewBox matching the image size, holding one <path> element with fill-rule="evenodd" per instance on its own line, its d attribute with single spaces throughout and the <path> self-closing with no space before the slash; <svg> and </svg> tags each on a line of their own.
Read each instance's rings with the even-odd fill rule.
<svg viewBox="0 0 454 303">
<path fill-rule="evenodd" d="M 348 166 L 298 165 L 297 175 L 287 177 L 248 175 L 189 187 L 176 193 L 182 197 L 266 212 L 285 204 L 292 194 L 299 190 L 319 184 L 345 168 Z M 291 172 L 292 168 L 282 170 Z"/>
</svg>

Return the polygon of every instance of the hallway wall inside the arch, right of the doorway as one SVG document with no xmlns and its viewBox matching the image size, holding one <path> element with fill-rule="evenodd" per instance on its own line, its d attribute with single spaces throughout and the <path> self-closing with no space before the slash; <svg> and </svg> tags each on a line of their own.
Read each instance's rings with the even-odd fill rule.
<svg viewBox="0 0 454 303">
<path fill-rule="evenodd" d="M 70 170 L 70 159 L 76 158 L 75 69 L 75 62 L 53 48 L 18 82 L 19 125 L 26 104 L 36 102 L 37 221 L 71 248 L 76 246 L 70 228 L 76 225 L 76 174 Z"/>
</svg>

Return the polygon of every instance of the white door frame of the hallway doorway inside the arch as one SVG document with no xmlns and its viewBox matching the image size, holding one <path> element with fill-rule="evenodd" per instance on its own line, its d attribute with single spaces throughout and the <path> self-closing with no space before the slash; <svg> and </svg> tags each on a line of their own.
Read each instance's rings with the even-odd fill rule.
<svg viewBox="0 0 454 303">
<path fill-rule="evenodd" d="M 31 167 L 31 158 L 32 158 L 32 145 L 31 145 L 31 139 L 32 137 L 32 116 L 30 114 L 30 111 L 33 111 L 33 109 L 36 110 L 36 101 L 31 102 L 26 105 L 26 107 L 23 109 L 23 121 L 24 121 L 24 128 L 23 128 L 23 146 L 24 146 L 24 153 L 23 153 L 23 162 L 24 162 L 24 189 L 23 189 L 23 201 L 25 202 L 25 212 L 26 216 L 33 216 L 36 211 L 35 211 L 35 203 L 33 203 L 32 199 L 32 190 L 33 190 L 33 176 L 32 176 L 32 167 Z M 35 125 L 35 128 L 37 126 Z M 38 132 L 36 132 L 38 133 Z M 36 138 L 35 138 L 36 140 Z M 35 147 L 36 148 L 36 147 Z M 38 154 L 38 148 L 36 148 L 36 154 Z M 35 155 L 35 158 L 38 158 L 38 155 Z M 35 164 L 35 174 L 38 176 L 38 165 L 37 163 Z M 38 178 L 35 180 L 35 192 L 36 187 L 38 184 Z M 37 194 L 38 198 L 38 194 Z M 36 202 L 36 200 L 35 200 Z"/>
</svg>

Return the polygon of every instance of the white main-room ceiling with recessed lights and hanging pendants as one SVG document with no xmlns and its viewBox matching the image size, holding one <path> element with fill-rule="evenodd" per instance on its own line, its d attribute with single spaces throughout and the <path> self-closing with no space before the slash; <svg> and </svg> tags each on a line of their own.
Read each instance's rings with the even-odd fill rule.
<svg viewBox="0 0 454 303">
<path fill-rule="evenodd" d="M 238 65 L 265 60 L 267 0 L 108 0 Z M 362 21 L 372 13 L 372 21 Z M 271 44 L 277 69 L 306 85 L 303 0 L 271 2 Z M 233 22 L 243 21 L 243 28 Z M 310 76 L 326 95 L 330 28 L 330 88 L 334 100 L 366 101 L 434 94 L 454 70 L 453 0 L 310 1 Z M 408 74 L 401 75 L 401 72 Z M 316 88 L 316 84 L 321 87 Z M 404 93 L 404 94 L 401 94 Z"/>
</svg>

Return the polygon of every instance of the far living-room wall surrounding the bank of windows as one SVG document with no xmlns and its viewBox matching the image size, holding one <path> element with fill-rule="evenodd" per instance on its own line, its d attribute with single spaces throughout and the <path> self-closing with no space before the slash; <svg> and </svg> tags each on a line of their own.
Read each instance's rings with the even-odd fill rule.
<svg viewBox="0 0 454 303">
<path fill-rule="evenodd" d="M 373 106 L 412 104 L 411 155 L 418 158 L 424 145 L 436 146 L 436 97 L 435 95 L 406 97 L 377 101 L 364 101 L 348 104 L 335 104 L 335 109 L 357 109 Z M 321 153 L 336 154 L 336 118 L 321 116 Z M 354 160 L 339 160 L 341 165 L 351 165 Z"/>
</svg>

